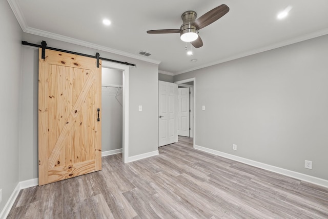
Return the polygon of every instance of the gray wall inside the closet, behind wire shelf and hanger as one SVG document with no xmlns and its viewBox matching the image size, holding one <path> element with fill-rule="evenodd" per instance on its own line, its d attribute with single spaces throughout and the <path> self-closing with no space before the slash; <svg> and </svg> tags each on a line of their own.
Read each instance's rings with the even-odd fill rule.
<svg viewBox="0 0 328 219">
<path fill-rule="evenodd" d="M 122 85 L 122 74 L 119 70 L 103 68 L 101 84 Z M 123 102 L 121 88 L 103 86 L 101 90 L 101 150 L 104 152 L 122 148 Z"/>
</svg>

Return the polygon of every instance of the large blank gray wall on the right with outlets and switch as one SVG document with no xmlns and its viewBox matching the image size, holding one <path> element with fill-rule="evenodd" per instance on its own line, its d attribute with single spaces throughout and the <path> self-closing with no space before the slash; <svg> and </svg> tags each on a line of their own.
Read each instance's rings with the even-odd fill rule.
<svg viewBox="0 0 328 219">
<path fill-rule="evenodd" d="M 325 35 L 176 75 L 196 77 L 196 145 L 328 180 L 327 58 Z"/>
</svg>

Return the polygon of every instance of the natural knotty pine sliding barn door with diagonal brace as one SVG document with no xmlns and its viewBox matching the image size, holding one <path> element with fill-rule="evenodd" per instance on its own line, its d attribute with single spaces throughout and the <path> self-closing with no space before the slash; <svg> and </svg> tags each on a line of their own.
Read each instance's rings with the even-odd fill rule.
<svg viewBox="0 0 328 219">
<path fill-rule="evenodd" d="M 39 50 L 39 185 L 101 170 L 101 62 Z"/>
</svg>

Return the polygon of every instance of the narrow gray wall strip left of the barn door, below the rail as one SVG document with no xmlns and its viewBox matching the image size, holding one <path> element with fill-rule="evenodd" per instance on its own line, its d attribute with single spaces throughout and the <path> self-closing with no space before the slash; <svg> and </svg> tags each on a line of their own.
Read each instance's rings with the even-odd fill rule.
<svg viewBox="0 0 328 219">
<path fill-rule="evenodd" d="M 38 49 L 22 47 L 22 100 L 20 102 L 19 135 L 19 181 L 36 178 L 38 174 L 37 154 L 37 104 L 38 104 Z M 33 147 L 31 147 L 33 146 Z M 31 177 L 31 176 L 35 177 Z"/>
</svg>

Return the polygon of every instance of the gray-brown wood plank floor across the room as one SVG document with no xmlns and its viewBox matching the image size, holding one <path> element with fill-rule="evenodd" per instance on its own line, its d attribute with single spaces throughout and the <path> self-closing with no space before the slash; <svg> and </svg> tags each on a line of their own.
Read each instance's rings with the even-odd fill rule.
<svg viewBox="0 0 328 219">
<path fill-rule="evenodd" d="M 328 218 L 328 189 L 192 148 L 20 191 L 7 218 Z"/>
</svg>

